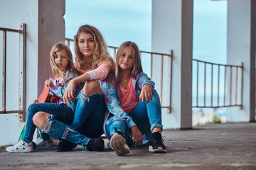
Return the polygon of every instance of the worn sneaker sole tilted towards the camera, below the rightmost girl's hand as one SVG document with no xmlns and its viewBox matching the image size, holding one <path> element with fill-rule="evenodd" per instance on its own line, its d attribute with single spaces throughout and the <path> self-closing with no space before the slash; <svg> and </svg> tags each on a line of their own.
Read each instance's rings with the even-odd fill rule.
<svg viewBox="0 0 256 170">
<path fill-rule="evenodd" d="M 114 135 L 111 137 L 110 147 L 117 153 L 118 156 L 129 154 L 130 152 L 124 137 L 117 133 L 114 133 Z"/>
</svg>

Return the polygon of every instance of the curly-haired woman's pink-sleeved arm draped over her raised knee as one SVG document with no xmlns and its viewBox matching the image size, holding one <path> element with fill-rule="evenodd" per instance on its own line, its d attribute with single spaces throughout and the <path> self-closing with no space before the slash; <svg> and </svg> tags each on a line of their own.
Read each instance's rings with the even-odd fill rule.
<svg viewBox="0 0 256 170">
<path fill-rule="evenodd" d="M 112 63 L 111 62 L 103 62 L 100 64 L 100 67 L 97 69 L 94 69 L 89 72 L 85 72 L 84 74 L 80 75 L 79 77 L 76 77 L 75 79 L 71 80 L 68 84 L 67 89 L 65 90 L 65 94 L 63 97 L 64 102 L 69 102 L 69 100 L 73 100 L 74 95 L 73 91 L 75 89 L 75 84 L 80 84 L 88 80 L 103 80 L 107 77 L 107 74 L 112 69 Z"/>
</svg>

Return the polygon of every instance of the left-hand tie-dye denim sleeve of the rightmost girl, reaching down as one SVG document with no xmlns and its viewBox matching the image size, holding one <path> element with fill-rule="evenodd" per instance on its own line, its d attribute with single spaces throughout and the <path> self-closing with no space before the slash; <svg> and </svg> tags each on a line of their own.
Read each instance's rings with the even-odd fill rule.
<svg viewBox="0 0 256 170">
<path fill-rule="evenodd" d="M 114 91 L 113 84 L 103 82 L 102 93 L 104 94 L 105 103 L 110 113 L 124 120 L 127 123 L 128 128 L 136 125 L 132 118 L 119 106 L 119 101 L 117 99 L 116 91 Z"/>
</svg>

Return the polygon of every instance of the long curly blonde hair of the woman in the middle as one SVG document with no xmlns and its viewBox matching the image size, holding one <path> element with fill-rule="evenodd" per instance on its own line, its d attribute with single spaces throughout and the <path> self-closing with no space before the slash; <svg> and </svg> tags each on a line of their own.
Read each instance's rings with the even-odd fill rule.
<svg viewBox="0 0 256 170">
<path fill-rule="evenodd" d="M 83 25 L 78 29 L 78 33 L 74 37 L 75 42 L 75 62 L 83 67 L 82 60 L 83 55 L 78 47 L 78 38 L 81 33 L 90 33 L 93 35 L 93 40 L 95 41 L 95 52 L 92 55 L 92 68 L 97 68 L 102 64 L 102 62 L 110 61 L 114 65 L 114 60 L 110 57 L 109 52 L 107 52 L 107 44 L 100 33 L 100 30 L 93 26 Z"/>
</svg>

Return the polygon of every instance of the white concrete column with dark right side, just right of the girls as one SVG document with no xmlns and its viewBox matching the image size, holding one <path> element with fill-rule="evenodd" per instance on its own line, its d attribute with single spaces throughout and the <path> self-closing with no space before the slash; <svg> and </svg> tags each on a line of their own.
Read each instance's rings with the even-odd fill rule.
<svg viewBox="0 0 256 170">
<path fill-rule="evenodd" d="M 174 50 L 171 113 L 163 109 L 164 128 L 192 128 L 192 35 L 193 1 L 152 1 L 151 50 L 168 54 Z M 153 61 L 154 81 L 159 81 L 159 74 L 156 72 L 160 67 L 159 58 L 154 57 Z M 169 89 L 164 89 L 164 93 L 165 91 Z"/>
</svg>

